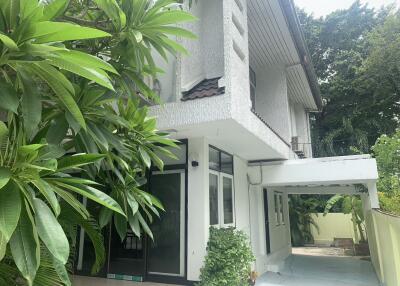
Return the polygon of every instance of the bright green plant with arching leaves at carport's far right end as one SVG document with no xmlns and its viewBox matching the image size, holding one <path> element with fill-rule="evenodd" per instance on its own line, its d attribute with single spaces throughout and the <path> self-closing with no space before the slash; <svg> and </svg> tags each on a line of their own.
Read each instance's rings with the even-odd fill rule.
<svg viewBox="0 0 400 286">
<path fill-rule="evenodd" d="M 365 242 L 366 237 L 364 235 L 365 221 L 364 221 L 364 210 L 362 207 L 361 198 L 359 196 L 349 195 L 334 195 L 331 197 L 325 206 L 324 216 L 326 216 L 330 210 L 335 206 L 341 204 L 341 211 L 344 214 L 351 214 L 351 221 L 353 223 L 354 235 L 356 241 Z M 358 239 L 358 235 L 360 239 Z"/>
</svg>

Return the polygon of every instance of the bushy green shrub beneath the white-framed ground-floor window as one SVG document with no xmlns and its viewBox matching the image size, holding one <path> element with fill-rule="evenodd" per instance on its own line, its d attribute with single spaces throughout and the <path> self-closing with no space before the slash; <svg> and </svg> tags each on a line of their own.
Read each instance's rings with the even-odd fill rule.
<svg viewBox="0 0 400 286">
<path fill-rule="evenodd" d="M 254 261 L 246 234 L 234 228 L 210 228 L 207 256 L 198 286 L 248 285 Z"/>
</svg>

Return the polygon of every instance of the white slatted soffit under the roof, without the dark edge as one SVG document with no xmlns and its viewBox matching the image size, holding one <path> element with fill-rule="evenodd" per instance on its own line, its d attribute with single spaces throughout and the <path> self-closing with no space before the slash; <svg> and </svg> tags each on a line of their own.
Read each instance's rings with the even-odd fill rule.
<svg viewBox="0 0 400 286">
<path fill-rule="evenodd" d="M 278 0 L 248 0 L 249 60 L 254 69 L 287 67 L 289 98 L 306 109 L 317 106 Z"/>
</svg>

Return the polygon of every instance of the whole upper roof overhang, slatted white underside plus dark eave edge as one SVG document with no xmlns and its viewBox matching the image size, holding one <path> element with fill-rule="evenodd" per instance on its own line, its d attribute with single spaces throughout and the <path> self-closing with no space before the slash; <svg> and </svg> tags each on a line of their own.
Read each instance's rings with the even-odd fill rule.
<svg viewBox="0 0 400 286">
<path fill-rule="evenodd" d="M 250 65 L 283 65 L 289 98 L 309 111 L 323 107 L 318 79 L 292 0 L 248 1 Z"/>
</svg>

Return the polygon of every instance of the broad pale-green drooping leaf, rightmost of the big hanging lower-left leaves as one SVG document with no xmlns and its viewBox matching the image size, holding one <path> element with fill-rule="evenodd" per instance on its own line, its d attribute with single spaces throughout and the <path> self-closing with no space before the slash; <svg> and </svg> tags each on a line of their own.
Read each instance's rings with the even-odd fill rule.
<svg viewBox="0 0 400 286">
<path fill-rule="evenodd" d="M 69 242 L 50 208 L 40 199 L 34 199 L 36 228 L 50 253 L 65 264 L 69 257 Z"/>
</svg>

